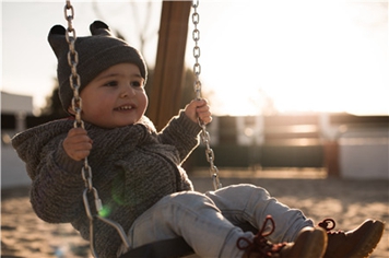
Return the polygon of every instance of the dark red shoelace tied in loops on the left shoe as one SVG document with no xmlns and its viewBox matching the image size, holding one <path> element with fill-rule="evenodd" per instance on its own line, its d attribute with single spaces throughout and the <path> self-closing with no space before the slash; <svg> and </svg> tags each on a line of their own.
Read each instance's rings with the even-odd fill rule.
<svg viewBox="0 0 389 258">
<path fill-rule="evenodd" d="M 268 223 L 271 223 L 271 230 L 268 233 L 264 233 Z M 261 230 L 254 237 L 252 242 L 247 237 L 239 237 L 236 242 L 236 246 L 240 250 L 247 250 L 248 257 L 251 253 L 256 255 L 261 255 L 260 257 L 270 258 L 273 254 L 280 253 L 280 249 L 286 245 L 283 244 L 270 244 L 264 237 L 271 235 L 275 230 L 275 223 L 271 215 L 268 215 L 262 224 Z M 244 244 L 243 244 L 244 243 Z"/>
</svg>

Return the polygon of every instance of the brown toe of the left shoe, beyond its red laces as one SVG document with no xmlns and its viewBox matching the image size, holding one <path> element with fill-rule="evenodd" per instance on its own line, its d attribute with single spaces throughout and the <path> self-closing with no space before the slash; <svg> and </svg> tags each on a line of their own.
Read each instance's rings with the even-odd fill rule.
<svg viewBox="0 0 389 258">
<path fill-rule="evenodd" d="M 295 254 L 288 258 L 321 258 L 327 249 L 327 232 L 322 228 L 303 230 L 296 243 L 302 245 L 295 246 Z"/>
</svg>

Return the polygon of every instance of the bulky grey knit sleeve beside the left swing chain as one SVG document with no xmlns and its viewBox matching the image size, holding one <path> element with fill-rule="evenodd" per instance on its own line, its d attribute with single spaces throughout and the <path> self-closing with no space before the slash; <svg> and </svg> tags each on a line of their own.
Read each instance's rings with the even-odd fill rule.
<svg viewBox="0 0 389 258">
<path fill-rule="evenodd" d="M 82 194 L 85 186 L 81 176 L 83 163 L 67 155 L 62 141 L 56 142 L 56 148 L 48 144 L 40 154 L 32 184 L 31 202 L 42 220 L 64 223 L 84 212 Z"/>
</svg>

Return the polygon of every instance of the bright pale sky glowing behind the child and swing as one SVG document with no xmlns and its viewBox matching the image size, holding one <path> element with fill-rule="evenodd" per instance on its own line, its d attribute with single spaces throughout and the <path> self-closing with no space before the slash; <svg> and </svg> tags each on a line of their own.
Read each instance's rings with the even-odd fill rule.
<svg viewBox="0 0 389 258">
<path fill-rule="evenodd" d="M 64 2 L 1 4 L 1 90 L 33 96 L 36 109 L 55 85 L 57 60 L 47 34 L 55 24 L 67 26 Z M 90 35 L 94 20 L 135 48 L 143 35 L 143 56 L 154 66 L 161 1 L 71 2 L 78 36 Z M 200 0 L 198 11 L 200 79 L 213 114 L 266 114 L 272 103 L 281 113 L 389 115 L 387 1 Z M 189 19 L 189 68 L 192 30 Z"/>
</svg>

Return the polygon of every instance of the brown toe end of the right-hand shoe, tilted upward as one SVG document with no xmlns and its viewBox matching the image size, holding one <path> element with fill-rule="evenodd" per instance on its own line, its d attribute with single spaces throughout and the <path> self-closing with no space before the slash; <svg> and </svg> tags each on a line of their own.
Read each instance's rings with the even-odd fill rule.
<svg viewBox="0 0 389 258">
<path fill-rule="evenodd" d="M 366 230 L 366 235 L 358 243 L 358 248 L 355 253 L 350 255 L 347 258 L 366 258 L 378 245 L 382 237 L 385 224 L 380 221 L 368 220 L 363 223 L 362 226 L 370 227 Z"/>
</svg>

